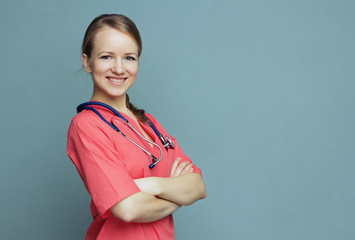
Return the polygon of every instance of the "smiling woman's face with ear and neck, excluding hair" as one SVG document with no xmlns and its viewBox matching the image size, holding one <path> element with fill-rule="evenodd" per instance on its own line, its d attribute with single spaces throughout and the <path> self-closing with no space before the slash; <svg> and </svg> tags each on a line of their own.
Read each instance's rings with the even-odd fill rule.
<svg viewBox="0 0 355 240">
<path fill-rule="evenodd" d="M 95 100 L 124 98 L 138 74 L 138 48 L 127 34 L 105 27 L 93 39 L 90 58 L 83 54 L 84 67 L 94 80 Z"/>
</svg>

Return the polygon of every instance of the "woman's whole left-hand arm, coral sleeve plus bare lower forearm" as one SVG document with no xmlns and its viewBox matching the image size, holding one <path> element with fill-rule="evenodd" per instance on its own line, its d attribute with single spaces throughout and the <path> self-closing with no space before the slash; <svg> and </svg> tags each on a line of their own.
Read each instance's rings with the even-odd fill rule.
<svg viewBox="0 0 355 240">
<path fill-rule="evenodd" d="M 71 124 L 68 155 L 77 167 L 98 213 L 103 218 L 113 214 L 126 222 L 151 222 L 177 210 L 180 207 L 178 204 L 140 191 L 123 162 L 117 161 L 120 156 L 107 134 L 112 130 L 100 119 L 96 123 L 96 118 L 91 119 L 91 115 L 87 114 L 78 115 L 80 118 Z M 87 119 L 81 119 L 83 116 Z"/>
</svg>

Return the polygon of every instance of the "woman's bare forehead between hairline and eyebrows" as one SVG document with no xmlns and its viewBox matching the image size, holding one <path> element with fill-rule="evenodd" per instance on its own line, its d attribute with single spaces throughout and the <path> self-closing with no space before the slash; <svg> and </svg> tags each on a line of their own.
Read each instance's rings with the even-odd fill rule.
<svg viewBox="0 0 355 240">
<path fill-rule="evenodd" d="M 138 53 L 138 46 L 130 35 L 105 27 L 99 30 L 93 38 L 93 52 L 102 51 Z"/>
</svg>

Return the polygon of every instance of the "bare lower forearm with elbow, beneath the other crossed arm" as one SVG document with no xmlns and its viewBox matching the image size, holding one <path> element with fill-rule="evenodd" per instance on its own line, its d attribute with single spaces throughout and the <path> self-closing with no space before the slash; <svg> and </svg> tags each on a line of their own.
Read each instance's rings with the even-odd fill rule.
<svg viewBox="0 0 355 240">
<path fill-rule="evenodd" d="M 125 222 L 153 222 L 179 209 L 180 205 L 137 192 L 111 207 L 112 214 Z"/>
</svg>

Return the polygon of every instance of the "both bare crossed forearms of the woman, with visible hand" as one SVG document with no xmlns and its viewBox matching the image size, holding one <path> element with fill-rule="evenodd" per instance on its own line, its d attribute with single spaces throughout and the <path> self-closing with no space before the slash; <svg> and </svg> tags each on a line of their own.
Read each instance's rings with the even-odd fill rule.
<svg viewBox="0 0 355 240">
<path fill-rule="evenodd" d="M 206 197 L 202 176 L 192 172 L 189 162 L 177 158 L 169 178 L 148 177 L 134 180 L 141 192 L 121 200 L 111 212 L 125 222 L 152 222 L 164 218 L 183 205 Z"/>
</svg>

